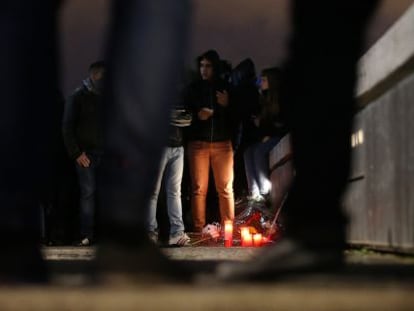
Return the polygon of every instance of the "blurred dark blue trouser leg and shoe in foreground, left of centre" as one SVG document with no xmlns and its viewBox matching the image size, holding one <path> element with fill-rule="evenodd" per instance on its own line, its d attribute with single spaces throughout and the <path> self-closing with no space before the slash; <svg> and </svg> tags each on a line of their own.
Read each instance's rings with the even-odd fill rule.
<svg viewBox="0 0 414 311">
<path fill-rule="evenodd" d="M 98 264 L 107 274 L 126 278 L 163 272 L 166 278 L 184 278 L 149 242 L 145 225 L 168 140 L 171 99 L 184 67 L 190 2 L 112 3 Z"/>
</svg>

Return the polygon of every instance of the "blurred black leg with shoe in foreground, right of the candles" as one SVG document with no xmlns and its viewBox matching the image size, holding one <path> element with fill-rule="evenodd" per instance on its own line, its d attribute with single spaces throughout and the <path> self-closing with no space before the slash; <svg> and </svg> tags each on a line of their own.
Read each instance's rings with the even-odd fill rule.
<svg viewBox="0 0 414 311">
<path fill-rule="evenodd" d="M 341 196 L 349 173 L 357 61 L 378 2 L 292 2 L 293 35 L 281 85 L 296 168 L 285 207 L 286 238 L 255 262 L 219 266 L 222 280 L 274 279 L 343 265 L 347 220 Z"/>
</svg>

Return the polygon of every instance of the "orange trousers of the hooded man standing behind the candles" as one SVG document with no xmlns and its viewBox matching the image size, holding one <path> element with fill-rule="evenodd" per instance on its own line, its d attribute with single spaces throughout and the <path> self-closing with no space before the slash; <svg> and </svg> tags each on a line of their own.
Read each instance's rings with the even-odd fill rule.
<svg viewBox="0 0 414 311">
<path fill-rule="evenodd" d="M 233 148 L 231 141 L 193 141 L 188 145 L 191 175 L 191 206 L 194 231 L 206 224 L 206 199 L 210 165 L 219 197 L 221 222 L 234 218 Z"/>
</svg>

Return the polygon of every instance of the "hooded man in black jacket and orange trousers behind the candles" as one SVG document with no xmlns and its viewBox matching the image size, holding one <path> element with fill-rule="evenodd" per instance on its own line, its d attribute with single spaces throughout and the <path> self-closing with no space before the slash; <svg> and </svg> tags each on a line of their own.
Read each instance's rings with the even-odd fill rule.
<svg viewBox="0 0 414 311">
<path fill-rule="evenodd" d="M 220 57 L 209 50 L 197 58 L 199 79 L 188 91 L 186 103 L 193 114 L 188 131 L 193 225 L 201 232 L 206 224 L 206 198 L 210 166 L 219 197 L 221 222 L 234 218 L 233 147 L 227 83 L 220 78 Z"/>
</svg>

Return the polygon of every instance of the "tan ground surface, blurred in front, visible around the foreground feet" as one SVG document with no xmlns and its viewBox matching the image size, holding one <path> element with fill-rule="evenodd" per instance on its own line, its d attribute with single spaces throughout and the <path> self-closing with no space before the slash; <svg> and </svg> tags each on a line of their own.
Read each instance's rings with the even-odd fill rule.
<svg viewBox="0 0 414 311">
<path fill-rule="evenodd" d="M 163 248 L 171 259 L 211 272 L 223 260 L 251 260 L 255 248 Z M 347 251 L 345 273 L 269 283 L 87 286 L 94 248 L 47 247 L 52 285 L 0 288 L 0 310 L 414 310 L 414 259 Z"/>
</svg>

